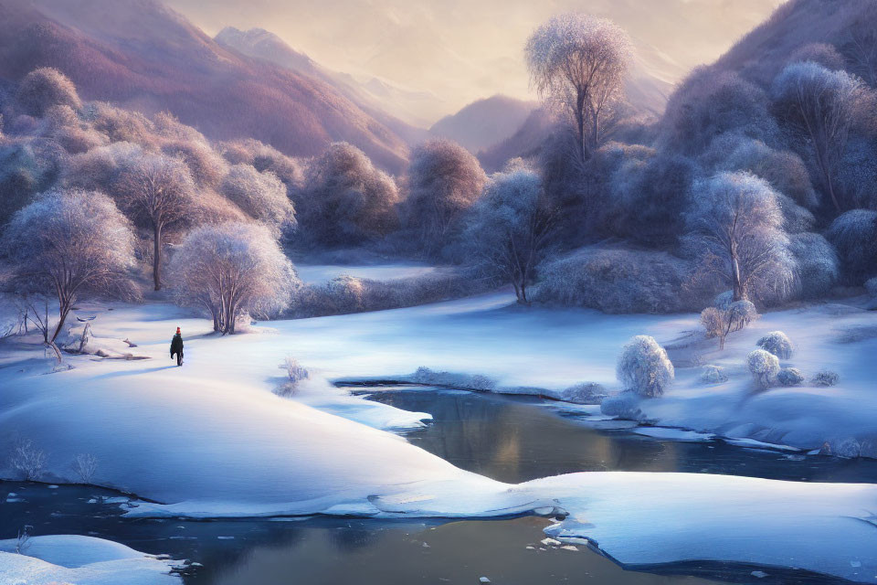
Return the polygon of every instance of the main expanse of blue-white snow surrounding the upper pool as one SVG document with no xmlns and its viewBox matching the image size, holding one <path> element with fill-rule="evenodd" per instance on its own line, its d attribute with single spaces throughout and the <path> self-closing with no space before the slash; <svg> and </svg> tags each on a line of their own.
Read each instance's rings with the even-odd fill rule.
<svg viewBox="0 0 877 585">
<path fill-rule="evenodd" d="M 418 366 L 495 378 L 503 387 L 560 389 L 614 382 L 631 335 L 668 341 L 695 315 L 604 315 L 523 308 L 508 293 L 369 314 L 259 324 L 252 333 L 209 335 L 206 320 L 170 305 L 83 306 L 95 335 L 128 338 L 136 361 L 70 356 L 74 369 L 47 374 L 32 346 L 0 348 L 0 451 L 24 437 L 47 452 L 45 479 L 76 481 L 79 453 L 99 463 L 93 482 L 142 501 L 131 516 L 506 516 L 569 513 L 552 534 L 588 537 L 623 562 L 682 559 L 796 566 L 877 582 L 877 486 L 794 484 L 721 475 L 575 473 L 502 484 L 464 472 L 395 434 L 424 415 L 354 398 L 325 379 L 386 377 Z M 183 328 L 185 365 L 168 344 Z M 873 432 L 871 394 L 877 315 L 820 306 L 765 315 L 733 335 L 721 355 L 731 380 L 706 387 L 696 368 L 651 417 L 697 431 L 810 447 Z M 808 373 L 839 371 L 835 388 L 752 394 L 742 367 L 755 339 L 781 329 Z M 855 339 L 857 341 L 850 341 Z M 99 343 L 99 342 L 95 342 Z M 272 393 L 279 365 L 296 356 L 312 380 L 291 399 Z M 763 405 L 763 406 L 758 406 Z M 740 421 L 740 422 L 738 422 Z M 748 424 L 745 432 L 742 426 Z M 362 424 L 365 422 L 365 424 Z M 744 429 L 744 430 L 741 430 Z M 800 432 L 806 430 L 807 432 Z M 15 473 L 2 463 L 0 476 Z"/>
</svg>

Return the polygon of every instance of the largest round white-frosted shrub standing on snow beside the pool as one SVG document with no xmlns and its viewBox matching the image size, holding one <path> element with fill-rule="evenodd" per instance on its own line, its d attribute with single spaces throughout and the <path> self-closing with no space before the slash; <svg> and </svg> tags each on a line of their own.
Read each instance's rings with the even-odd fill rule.
<svg viewBox="0 0 877 585">
<path fill-rule="evenodd" d="M 636 335 L 624 346 L 615 372 L 625 389 L 647 398 L 663 394 L 674 378 L 667 352 L 649 335 Z"/>
</svg>

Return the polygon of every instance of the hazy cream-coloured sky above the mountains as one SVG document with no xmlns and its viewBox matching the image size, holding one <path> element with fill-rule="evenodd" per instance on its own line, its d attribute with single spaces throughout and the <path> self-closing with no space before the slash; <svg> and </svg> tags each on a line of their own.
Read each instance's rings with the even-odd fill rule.
<svg viewBox="0 0 877 585">
<path fill-rule="evenodd" d="M 580 11 L 629 30 L 639 66 L 674 82 L 712 61 L 782 0 L 165 0 L 207 33 L 262 27 L 330 69 L 446 101 L 528 97 L 523 44 L 545 18 Z"/>
</svg>

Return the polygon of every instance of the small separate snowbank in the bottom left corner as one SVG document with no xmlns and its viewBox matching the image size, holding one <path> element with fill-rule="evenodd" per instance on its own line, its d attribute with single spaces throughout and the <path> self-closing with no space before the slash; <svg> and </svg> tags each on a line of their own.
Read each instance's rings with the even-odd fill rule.
<svg viewBox="0 0 877 585">
<path fill-rule="evenodd" d="M 178 585 L 173 561 L 110 540 L 73 535 L 32 537 L 16 553 L 16 540 L 0 540 L 4 585 Z"/>
</svg>

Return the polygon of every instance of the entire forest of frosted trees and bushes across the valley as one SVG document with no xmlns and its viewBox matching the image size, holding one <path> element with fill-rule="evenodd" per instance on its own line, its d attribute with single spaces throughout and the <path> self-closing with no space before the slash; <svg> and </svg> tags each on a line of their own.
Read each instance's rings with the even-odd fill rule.
<svg viewBox="0 0 877 585">
<path fill-rule="evenodd" d="M 877 277 L 875 36 L 695 69 L 660 118 L 625 101 L 631 51 L 606 19 L 537 27 L 523 56 L 555 125 L 492 175 L 444 139 L 398 176 L 353 144 L 211 141 L 35 69 L 0 90 L 2 285 L 47 343 L 84 296 L 166 291 L 234 333 L 510 285 L 522 304 L 703 311 L 724 344 L 756 311 Z M 291 262 L 351 250 L 449 268 L 303 284 Z"/>
</svg>

